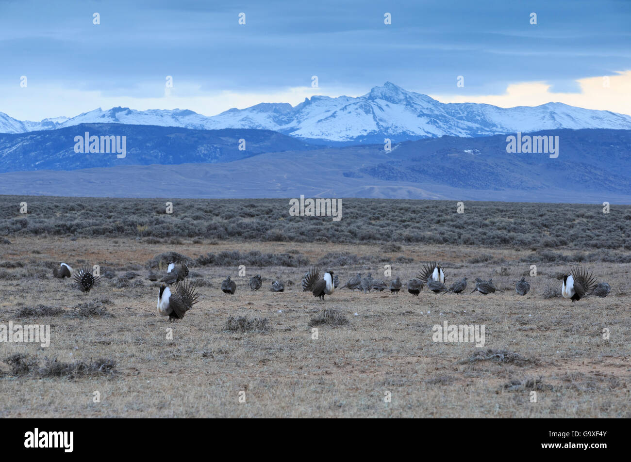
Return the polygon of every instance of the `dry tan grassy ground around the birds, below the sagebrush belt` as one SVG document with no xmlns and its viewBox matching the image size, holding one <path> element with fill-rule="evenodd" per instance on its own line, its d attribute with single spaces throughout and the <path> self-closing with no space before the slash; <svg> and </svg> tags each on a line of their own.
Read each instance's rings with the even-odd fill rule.
<svg viewBox="0 0 631 462">
<path fill-rule="evenodd" d="M 628 263 L 586 263 L 611 284 L 606 298 L 576 303 L 552 297 L 555 274 L 569 263 L 538 265 L 527 277 L 532 289 L 517 296 L 514 283 L 529 272 L 519 260 L 529 250 L 447 245 L 403 245 L 386 253 L 377 245 L 327 243 L 148 244 L 134 238 L 11 238 L 1 248 L 0 323 L 49 324 L 49 347 L 0 344 L 0 417 L 631 417 L 631 286 Z M 298 250 L 311 261 L 330 251 L 366 257 L 355 266 L 332 268 L 344 284 L 357 272 L 406 282 L 425 260 L 442 260 L 447 285 L 469 277 L 466 294 L 413 297 L 403 289 L 363 294 L 338 289 L 324 302 L 300 289 L 306 268 L 194 267 L 205 281 L 200 301 L 180 321 L 156 313 L 158 283 L 146 280 L 147 260 L 165 251 L 192 258 L 222 250 L 284 253 Z M 563 251 L 563 249 L 555 249 Z M 469 263 L 477 255 L 505 263 Z M 390 263 L 404 255 L 411 263 Z M 372 260 L 371 260 L 372 258 Z M 103 279 L 89 294 L 69 280 L 37 276 L 50 260 L 76 265 L 78 259 L 115 269 L 135 270 L 133 284 Z M 375 261 L 380 263 L 374 263 Z M 23 267 L 11 267 L 11 262 Z M 80 265 L 79 265 L 80 266 Z M 249 277 L 261 274 L 252 292 Z M 237 282 L 234 296 L 220 291 L 227 275 Z M 276 276 L 294 284 L 269 291 Z M 502 291 L 483 296 L 475 277 L 493 277 Z M 141 282 L 138 282 L 141 281 Z M 68 316 L 81 303 L 95 301 L 103 315 Z M 54 316 L 19 315 L 38 304 L 64 311 Z M 341 326 L 317 326 L 310 318 L 322 308 L 348 318 Z M 357 315 L 355 314 L 357 313 Z M 113 315 L 108 316 L 108 315 Z M 268 318 L 269 332 L 226 330 L 229 316 Z M 485 345 L 438 343 L 432 326 L 485 325 Z M 172 340 L 167 340 L 171 328 Z M 603 329 L 610 331 L 608 340 Z M 491 351 L 489 351 L 491 350 Z M 476 353 L 505 351 L 504 361 Z M 114 374 L 51 376 L 11 373 L 7 357 L 23 353 L 44 364 L 107 358 Z M 514 353 L 514 354 L 513 354 Z M 100 402 L 95 403 L 95 391 Z M 536 402 L 531 392 L 536 391 Z M 240 392 L 245 402 L 240 402 Z M 391 402 L 386 402 L 387 392 Z"/>
</svg>

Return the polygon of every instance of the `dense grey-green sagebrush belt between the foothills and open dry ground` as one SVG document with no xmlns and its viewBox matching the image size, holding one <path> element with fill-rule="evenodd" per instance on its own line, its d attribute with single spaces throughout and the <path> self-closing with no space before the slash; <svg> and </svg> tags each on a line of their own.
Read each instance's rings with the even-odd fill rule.
<svg viewBox="0 0 631 462">
<path fill-rule="evenodd" d="M 560 246 L 631 250 L 630 205 L 612 206 L 603 219 L 598 204 L 468 202 L 465 214 L 455 214 L 442 200 L 343 199 L 340 226 L 329 217 L 290 217 L 286 199 L 179 199 L 167 216 L 157 199 L 33 197 L 28 217 L 13 213 L 20 200 L 2 197 L 1 236 L 141 236 L 171 245 L 185 238 L 372 242 L 385 253 L 404 243 L 520 246 L 540 249 L 542 261 L 558 258 L 553 250 Z"/>
</svg>

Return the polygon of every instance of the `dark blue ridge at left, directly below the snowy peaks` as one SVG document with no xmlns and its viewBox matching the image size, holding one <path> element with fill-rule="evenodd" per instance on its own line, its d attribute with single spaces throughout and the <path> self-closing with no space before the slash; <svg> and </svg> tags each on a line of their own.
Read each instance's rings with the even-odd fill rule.
<svg viewBox="0 0 631 462">
<path fill-rule="evenodd" d="M 117 158 L 114 149 L 109 154 L 74 152 L 74 137 L 85 138 L 86 132 L 89 137 L 126 137 L 124 158 Z M 240 140 L 244 142 L 240 143 Z M 243 149 L 239 149 L 240 145 Z M 155 125 L 80 124 L 57 130 L 0 134 L 0 173 L 232 162 L 262 153 L 305 151 L 319 147 L 271 130 L 191 130 Z"/>
</svg>

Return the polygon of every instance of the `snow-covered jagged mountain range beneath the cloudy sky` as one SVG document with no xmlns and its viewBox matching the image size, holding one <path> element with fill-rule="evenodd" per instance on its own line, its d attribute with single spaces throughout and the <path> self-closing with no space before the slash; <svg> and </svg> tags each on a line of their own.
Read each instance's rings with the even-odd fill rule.
<svg viewBox="0 0 631 462">
<path fill-rule="evenodd" d="M 363 96 L 312 96 L 292 106 L 261 103 L 233 108 L 212 117 L 191 110 L 145 110 L 116 107 L 76 117 L 20 121 L 0 112 L 0 133 L 22 134 L 80 124 L 127 124 L 194 130 L 273 130 L 328 144 L 384 143 L 440 136 L 478 137 L 556 129 L 631 129 L 631 116 L 589 110 L 563 103 L 500 108 L 478 103 L 440 103 L 430 96 L 386 82 Z"/>
</svg>

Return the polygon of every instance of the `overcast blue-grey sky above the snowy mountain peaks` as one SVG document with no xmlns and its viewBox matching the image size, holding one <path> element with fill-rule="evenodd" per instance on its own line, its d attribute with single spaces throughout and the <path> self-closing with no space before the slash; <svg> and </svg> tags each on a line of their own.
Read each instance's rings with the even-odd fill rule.
<svg viewBox="0 0 631 462">
<path fill-rule="evenodd" d="M 629 0 L 218 3 L 0 0 L 0 112 L 21 120 L 116 106 L 215 115 L 359 96 L 391 81 L 444 102 L 560 101 L 631 113 Z"/>
</svg>

